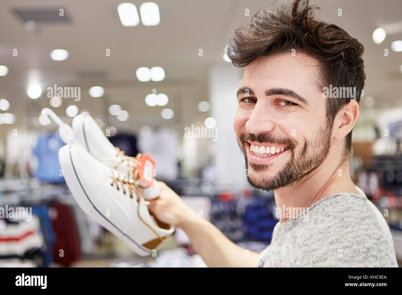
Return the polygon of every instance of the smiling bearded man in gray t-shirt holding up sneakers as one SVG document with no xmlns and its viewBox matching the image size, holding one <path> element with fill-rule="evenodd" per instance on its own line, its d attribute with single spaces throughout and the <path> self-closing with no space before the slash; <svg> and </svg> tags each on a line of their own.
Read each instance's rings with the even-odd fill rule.
<svg viewBox="0 0 402 295">
<path fill-rule="evenodd" d="M 209 267 L 397 267 L 384 217 L 349 175 L 363 45 L 315 9 L 303 0 L 263 8 L 227 49 L 245 66 L 234 129 L 248 181 L 274 190 L 279 213 L 267 249 L 246 255 L 164 183 L 151 201 Z"/>
</svg>

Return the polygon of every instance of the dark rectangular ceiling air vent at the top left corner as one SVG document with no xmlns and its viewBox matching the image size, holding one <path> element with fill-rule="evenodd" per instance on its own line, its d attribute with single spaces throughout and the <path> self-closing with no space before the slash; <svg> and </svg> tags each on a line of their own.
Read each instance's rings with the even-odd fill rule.
<svg viewBox="0 0 402 295">
<path fill-rule="evenodd" d="M 60 16 L 61 7 L 53 8 L 14 8 L 12 12 L 22 21 L 27 22 L 33 20 L 38 23 L 46 22 L 70 22 L 70 17 L 66 9 L 64 9 L 64 16 Z"/>
</svg>

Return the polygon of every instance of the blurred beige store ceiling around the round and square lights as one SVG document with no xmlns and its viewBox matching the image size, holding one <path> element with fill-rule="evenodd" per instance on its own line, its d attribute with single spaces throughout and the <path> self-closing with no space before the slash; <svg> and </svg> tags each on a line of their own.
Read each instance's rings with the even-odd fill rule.
<svg viewBox="0 0 402 295">
<path fill-rule="evenodd" d="M 158 26 L 124 27 L 119 21 L 113 0 L 70 0 L 64 4 L 54 0 L 2 0 L 0 3 L 0 65 L 6 65 L 8 75 L 0 77 L 0 98 L 7 99 L 15 124 L 39 125 L 37 116 L 49 106 L 46 88 L 57 86 L 81 87 L 81 100 L 64 99 L 59 108 L 52 108 L 65 116 L 66 107 L 76 104 L 94 117 L 109 124 L 119 122 L 107 114 L 110 104 L 121 104 L 130 114 L 129 124 L 202 124 L 208 114 L 197 110 L 197 103 L 208 98 L 207 77 L 214 65 L 237 69 L 222 59 L 224 47 L 235 28 L 250 22 L 251 16 L 272 1 L 253 0 L 158 0 Z M 59 4 L 60 3 L 60 4 Z M 133 1 L 139 7 L 142 1 Z M 402 106 L 402 52 L 390 49 L 390 43 L 402 40 L 402 2 L 386 0 L 328 0 L 317 1 L 320 15 L 344 28 L 365 46 L 363 58 L 366 68 L 365 96 L 375 98 L 375 108 Z M 63 8 L 69 22 L 37 23 L 28 30 L 13 12 L 15 8 Z M 337 16 L 338 8 L 343 16 Z M 250 16 L 244 16 L 249 9 Z M 388 31 L 385 41 L 376 45 L 371 40 L 375 28 Z M 384 49 L 389 56 L 384 57 Z M 18 56 L 12 55 L 13 49 Z M 69 58 L 53 61 L 53 49 L 66 49 Z M 105 50 L 110 49 L 110 57 Z M 199 56 L 203 49 L 203 56 Z M 138 67 L 161 66 L 166 78 L 161 82 L 139 82 Z M 223 77 L 224 79 L 224 77 Z M 37 100 L 27 96 L 27 86 L 39 83 L 43 93 Z M 92 98 L 91 86 L 103 86 L 105 95 Z M 166 107 L 149 107 L 146 94 L 156 89 L 166 93 Z M 235 95 L 235 94 L 234 94 Z M 229 102 L 228 102 L 229 103 Z M 233 103 L 233 102 L 232 102 Z M 160 117 L 163 108 L 172 108 L 173 119 Z M 362 105 L 363 113 L 364 106 Z M 27 118 L 36 118 L 29 121 Z M 66 118 L 65 118 L 66 119 Z M 68 122 L 68 118 L 66 119 Z M 11 126 L 2 125 L 4 132 Z"/>
</svg>

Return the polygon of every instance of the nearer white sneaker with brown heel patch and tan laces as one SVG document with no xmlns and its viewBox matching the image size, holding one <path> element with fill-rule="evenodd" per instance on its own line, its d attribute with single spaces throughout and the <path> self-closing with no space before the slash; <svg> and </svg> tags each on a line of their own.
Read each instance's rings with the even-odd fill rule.
<svg viewBox="0 0 402 295">
<path fill-rule="evenodd" d="M 109 142 L 110 143 L 110 142 Z M 125 242 L 135 253 L 147 256 L 174 232 L 148 211 L 148 204 L 127 175 L 101 163 L 82 147 L 59 149 L 64 179 L 81 209 Z"/>
</svg>

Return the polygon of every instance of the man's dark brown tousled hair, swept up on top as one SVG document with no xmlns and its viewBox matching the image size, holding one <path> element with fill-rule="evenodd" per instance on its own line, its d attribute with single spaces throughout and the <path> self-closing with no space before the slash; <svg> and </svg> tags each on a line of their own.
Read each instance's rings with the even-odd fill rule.
<svg viewBox="0 0 402 295">
<path fill-rule="evenodd" d="M 364 47 L 346 31 L 334 24 L 315 19 L 320 8 L 308 0 L 295 0 L 293 4 L 275 2 L 275 11 L 264 7 L 252 17 L 250 25 L 236 29 L 226 54 L 237 67 L 250 65 L 257 57 L 301 51 L 320 62 L 318 87 L 356 87 L 359 103 L 366 75 L 361 56 Z M 333 126 L 336 114 L 350 98 L 327 98 L 326 115 Z M 346 137 L 346 150 L 350 153 L 352 131 Z"/>
</svg>

